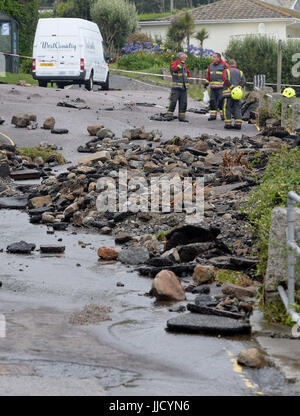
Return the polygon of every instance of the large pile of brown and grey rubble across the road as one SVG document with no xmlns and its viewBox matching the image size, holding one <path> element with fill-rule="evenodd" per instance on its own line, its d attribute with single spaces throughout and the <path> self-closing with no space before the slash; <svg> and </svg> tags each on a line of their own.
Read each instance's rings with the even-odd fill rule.
<svg viewBox="0 0 300 416">
<path fill-rule="evenodd" d="M 78 149 L 91 154 L 82 157 L 77 166 L 30 188 L 30 221 L 54 230 L 72 224 L 112 234 L 118 247 L 100 247 L 99 261 L 134 265 L 141 275 L 156 279 L 150 294 L 158 300 L 183 300 L 184 293 L 192 292 L 197 297 L 187 308 L 193 314 L 247 318 L 259 283 L 249 278 L 257 261 L 251 257 L 252 235 L 241 205 L 263 174 L 269 155 L 283 143 L 292 146 L 295 137 L 266 134 L 232 139 L 202 134 L 175 136 L 161 144 L 147 143 L 149 133 L 143 128 L 127 130 L 116 138 L 102 125 L 91 127 L 88 130 L 96 139 Z M 150 134 L 160 136 L 157 131 Z M 126 172 L 125 179 L 121 171 Z M 195 209 L 189 206 L 174 211 L 175 187 L 169 206 L 159 199 L 159 211 L 151 211 L 152 181 L 164 177 L 177 177 L 180 184 L 186 178 L 194 184 L 204 178 L 203 218 L 190 222 Z M 124 186 L 127 189 L 126 201 L 117 199 L 114 210 L 98 209 L 99 197 L 109 194 L 103 180 L 115 185 L 116 194 Z M 147 212 L 130 209 L 131 197 L 137 192 L 138 204 L 146 203 Z M 217 273 L 222 269 L 245 273 L 245 287 L 220 283 Z M 184 282 L 186 277 L 192 280 L 181 286 L 178 279 Z M 218 296 L 209 295 L 213 285 L 220 287 Z"/>
</svg>

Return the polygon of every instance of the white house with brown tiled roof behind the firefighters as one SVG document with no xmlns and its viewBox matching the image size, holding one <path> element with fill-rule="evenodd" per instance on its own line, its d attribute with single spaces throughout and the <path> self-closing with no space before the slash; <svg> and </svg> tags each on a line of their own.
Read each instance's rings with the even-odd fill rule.
<svg viewBox="0 0 300 416">
<path fill-rule="evenodd" d="M 293 5 L 299 4 L 294 0 Z M 275 6 L 266 1 L 219 0 L 192 9 L 191 13 L 195 18 L 195 32 L 202 28 L 206 28 L 209 32 L 204 47 L 220 53 L 225 52 L 230 39 L 242 38 L 249 34 L 268 35 L 282 40 L 300 39 L 300 11 Z M 140 21 L 139 30 L 153 39 L 158 37 L 165 40 L 175 16 L 154 21 Z M 199 45 L 199 41 L 194 38 L 191 38 L 190 43 Z"/>
</svg>

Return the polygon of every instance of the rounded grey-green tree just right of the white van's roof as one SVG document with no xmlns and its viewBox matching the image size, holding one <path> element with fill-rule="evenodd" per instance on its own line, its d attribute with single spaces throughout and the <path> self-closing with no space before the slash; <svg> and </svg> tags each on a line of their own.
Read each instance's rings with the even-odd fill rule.
<svg viewBox="0 0 300 416">
<path fill-rule="evenodd" d="M 108 53 L 119 53 L 127 37 L 137 29 L 135 5 L 128 0 L 96 0 L 91 8 Z"/>
</svg>

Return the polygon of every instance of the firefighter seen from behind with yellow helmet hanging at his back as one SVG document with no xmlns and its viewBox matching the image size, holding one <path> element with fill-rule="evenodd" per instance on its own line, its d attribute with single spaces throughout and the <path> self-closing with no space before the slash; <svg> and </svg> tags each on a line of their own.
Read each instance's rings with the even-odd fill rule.
<svg viewBox="0 0 300 416">
<path fill-rule="evenodd" d="M 243 71 L 236 67 L 236 61 L 231 59 L 229 61 L 229 68 L 223 72 L 224 80 L 224 116 L 225 129 L 241 130 L 242 128 L 242 102 L 243 87 L 246 85 Z M 232 118 L 234 124 L 232 125 Z"/>
</svg>

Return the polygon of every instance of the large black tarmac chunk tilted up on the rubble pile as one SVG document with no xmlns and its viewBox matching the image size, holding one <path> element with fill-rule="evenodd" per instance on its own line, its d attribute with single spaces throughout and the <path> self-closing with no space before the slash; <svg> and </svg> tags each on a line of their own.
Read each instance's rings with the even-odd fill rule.
<svg viewBox="0 0 300 416">
<path fill-rule="evenodd" d="M 166 250 L 170 250 L 171 248 L 180 245 L 215 241 L 219 233 L 220 230 L 217 228 L 210 228 L 207 224 L 201 226 L 184 225 L 175 228 L 166 235 Z"/>
</svg>

